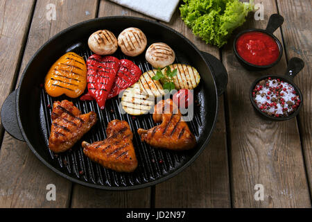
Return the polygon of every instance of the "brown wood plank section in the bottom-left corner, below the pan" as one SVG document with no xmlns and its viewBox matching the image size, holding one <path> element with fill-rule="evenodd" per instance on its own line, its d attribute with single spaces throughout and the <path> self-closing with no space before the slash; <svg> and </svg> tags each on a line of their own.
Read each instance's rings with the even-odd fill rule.
<svg viewBox="0 0 312 222">
<path fill-rule="evenodd" d="M 71 182 L 44 166 L 25 142 L 8 133 L 0 153 L 0 207 L 67 207 Z M 46 185 L 55 185 L 56 200 L 46 200 Z"/>
</svg>

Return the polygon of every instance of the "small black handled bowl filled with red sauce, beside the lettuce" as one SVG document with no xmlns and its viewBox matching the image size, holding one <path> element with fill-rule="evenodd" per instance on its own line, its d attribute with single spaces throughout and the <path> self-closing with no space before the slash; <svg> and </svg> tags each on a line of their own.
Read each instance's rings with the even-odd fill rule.
<svg viewBox="0 0 312 222">
<path fill-rule="evenodd" d="M 260 71 L 279 62 L 283 48 L 273 33 L 283 22 L 284 18 L 281 15 L 273 14 L 266 29 L 250 28 L 236 35 L 234 54 L 243 67 Z"/>
</svg>

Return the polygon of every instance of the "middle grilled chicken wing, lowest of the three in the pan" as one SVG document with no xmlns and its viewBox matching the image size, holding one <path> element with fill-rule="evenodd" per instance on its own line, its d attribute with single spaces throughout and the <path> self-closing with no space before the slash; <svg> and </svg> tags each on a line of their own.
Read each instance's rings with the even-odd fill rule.
<svg viewBox="0 0 312 222">
<path fill-rule="evenodd" d="M 83 153 L 103 167 L 119 172 L 137 168 L 137 157 L 132 144 L 133 134 L 126 121 L 115 119 L 107 126 L 107 139 L 89 144 L 83 142 Z"/>
</svg>

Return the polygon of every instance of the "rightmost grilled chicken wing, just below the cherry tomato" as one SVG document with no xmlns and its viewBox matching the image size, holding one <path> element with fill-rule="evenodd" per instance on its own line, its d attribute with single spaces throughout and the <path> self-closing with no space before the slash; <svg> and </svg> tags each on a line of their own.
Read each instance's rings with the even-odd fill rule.
<svg viewBox="0 0 312 222">
<path fill-rule="evenodd" d="M 196 146 L 196 139 L 182 120 L 182 114 L 171 99 L 160 101 L 155 105 L 153 119 L 159 126 L 149 130 L 138 129 L 141 140 L 157 148 L 175 151 L 188 150 Z"/>
</svg>

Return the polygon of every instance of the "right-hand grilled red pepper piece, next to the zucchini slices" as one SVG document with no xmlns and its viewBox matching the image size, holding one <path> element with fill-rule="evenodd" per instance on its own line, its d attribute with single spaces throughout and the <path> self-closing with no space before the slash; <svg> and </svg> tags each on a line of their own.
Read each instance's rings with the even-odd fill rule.
<svg viewBox="0 0 312 222">
<path fill-rule="evenodd" d="M 130 60 L 120 60 L 120 67 L 117 71 L 115 83 L 108 95 L 108 99 L 117 96 L 123 89 L 137 83 L 142 74 L 141 69 Z"/>
</svg>

